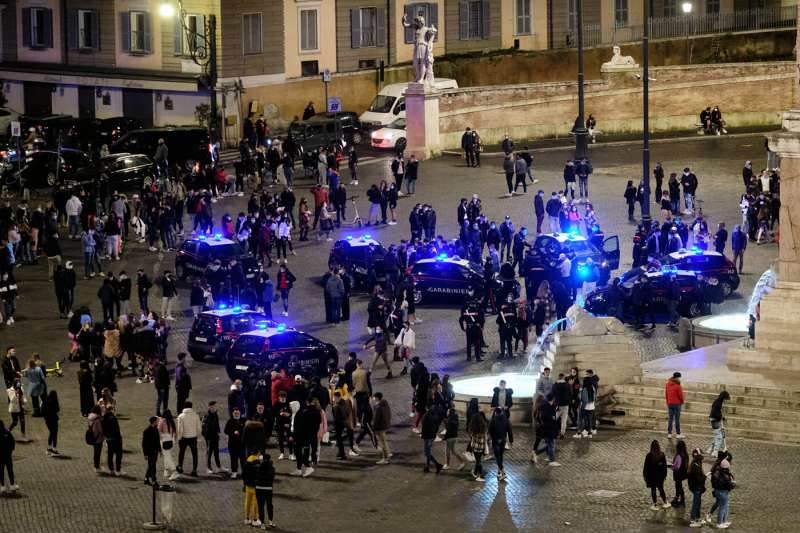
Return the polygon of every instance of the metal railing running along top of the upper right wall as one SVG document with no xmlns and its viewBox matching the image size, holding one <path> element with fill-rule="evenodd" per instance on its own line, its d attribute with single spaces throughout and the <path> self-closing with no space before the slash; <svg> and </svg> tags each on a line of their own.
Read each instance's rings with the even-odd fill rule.
<svg viewBox="0 0 800 533">
<path fill-rule="evenodd" d="M 737 31 L 794 28 L 796 25 L 797 5 L 704 15 L 651 17 L 650 38 L 671 39 Z M 583 27 L 584 46 L 641 41 L 642 29 L 641 24 L 611 26 L 605 29 L 601 28 L 599 24 L 585 24 Z M 577 33 L 574 30 L 566 32 L 563 39 L 554 39 L 553 46 L 577 47 Z"/>
</svg>

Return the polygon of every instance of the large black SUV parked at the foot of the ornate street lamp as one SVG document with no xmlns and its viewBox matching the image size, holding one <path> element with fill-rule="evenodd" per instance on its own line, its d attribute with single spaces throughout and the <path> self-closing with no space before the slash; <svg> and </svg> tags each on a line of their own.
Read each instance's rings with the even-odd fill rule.
<svg viewBox="0 0 800 533">
<path fill-rule="evenodd" d="M 158 140 L 164 139 L 169 150 L 169 164 L 189 169 L 195 161 L 211 161 L 208 131 L 199 127 L 150 128 L 133 130 L 111 145 L 111 153 L 146 154 L 153 157 Z"/>
</svg>

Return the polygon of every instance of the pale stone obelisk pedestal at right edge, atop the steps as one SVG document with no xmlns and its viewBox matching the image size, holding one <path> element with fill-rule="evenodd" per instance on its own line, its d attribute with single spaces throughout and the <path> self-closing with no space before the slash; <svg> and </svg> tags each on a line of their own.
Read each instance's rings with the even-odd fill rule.
<svg viewBox="0 0 800 533">
<path fill-rule="evenodd" d="M 728 351 L 732 366 L 800 371 L 800 109 L 783 117 L 783 131 L 768 137 L 781 156 L 780 247 L 778 284 L 761 300 L 755 349 Z M 797 221 L 797 226 L 795 226 Z"/>
</svg>

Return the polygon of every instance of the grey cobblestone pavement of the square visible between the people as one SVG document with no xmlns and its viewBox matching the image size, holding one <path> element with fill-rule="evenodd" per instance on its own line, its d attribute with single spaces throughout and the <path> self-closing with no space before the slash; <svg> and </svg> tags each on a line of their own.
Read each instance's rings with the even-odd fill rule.
<svg viewBox="0 0 800 533">
<path fill-rule="evenodd" d="M 536 188 L 546 192 L 562 183 L 561 168 L 569 152 L 536 155 Z M 629 237 L 633 227 L 627 224 L 622 192 L 625 181 L 639 172 L 640 152 L 635 147 L 593 148 L 595 176 L 592 200 L 608 234 L 618 233 L 623 244 L 623 262 L 630 263 Z M 739 218 L 737 200 L 740 169 L 745 159 L 762 161 L 760 137 L 737 139 L 702 139 L 692 142 L 654 145 L 653 161 L 661 160 L 667 172 L 687 164 L 700 180 L 699 196 L 711 222 L 725 220 L 732 226 Z M 688 162 L 688 163 L 687 163 Z M 758 163 L 755 165 L 759 166 Z M 384 177 L 388 163 L 374 161 L 362 167 L 361 201 L 365 185 Z M 346 175 L 346 173 L 345 173 Z M 499 159 L 485 158 L 480 169 L 468 169 L 456 158 L 442 158 L 422 164 L 415 200 L 432 203 L 438 211 L 439 233 L 456 231 L 455 206 L 461 196 L 476 192 L 484 200 L 484 209 L 497 219 L 510 214 L 517 224 L 531 226 L 532 197 L 501 198 L 504 178 Z M 304 189 L 304 188 L 303 188 Z M 351 190 L 351 192 L 353 192 Z M 301 192 L 301 195 L 305 192 Z M 407 209 L 412 200 L 400 203 L 400 224 L 372 228 L 372 234 L 384 242 L 397 241 L 407 234 Z M 216 204 L 220 216 L 225 210 L 238 212 L 244 199 L 228 199 Z M 363 207 L 363 206 L 362 206 Z M 362 213 L 366 210 L 362 209 Z M 298 243 L 298 256 L 290 268 L 298 277 L 292 292 L 289 322 L 339 348 L 342 356 L 360 350 L 365 336 L 363 297 L 353 301 L 349 324 L 338 328 L 324 323 L 320 288 L 313 283 L 326 264 L 328 246 L 316 242 Z M 777 253 L 774 245 L 748 249 L 740 294 L 749 294 L 755 280 Z M 66 256 L 80 264 L 77 243 L 66 246 Z M 125 258 L 113 265 L 134 272 L 145 265 L 159 272 L 172 264 L 172 254 L 149 254 L 141 245 L 132 245 Z M 110 266 L 110 265 L 106 265 Z M 52 287 L 47 282 L 46 267 L 19 270 L 21 297 L 18 321 L 11 328 L 0 329 L 0 345 L 15 344 L 21 359 L 39 351 L 48 361 L 66 353 L 65 322 L 57 319 Z M 95 303 L 99 281 L 79 283 L 76 303 Z M 187 303 L 188 291 L 181 294 Z M 734 297 L 720 306 L 723 310 L 741 309 L 745 299 Z M 459 376 L 488 371 L 491 360 L 468 366 L 463 361 L 462 336 L 456 312 L 444 308 L 423 308 L 424 320 L 417 326 L 418 354 L 429 368 Z M 189 320 L 181 319 L 173 330 L 169 359 L 185 346 Z M 497 346 L 492 328 L 490 349 Z M 671 334 L 661 331 L 640 346 L 643 358 L 652 358 L 672 350 Z M 361 353 L 366 356 L 365 353 Z M 13 498 L 0 499 L 0 531 L 87 532 L 101 530 L 131 531 L 149 517 L 151 491 L 141 482 L 144 464 L 139 450 L 141 431 L 152 413 L 154 391 L 151 385 L 137 385 L 129 378 L 118 381 L 118 402 L 122 414 L 122 432 L 126 454 L 122 479 L 97 476 L 91 469 L 91 454 L 83 443 L 83 419 L 78 412 L 75 365 L 67 364 L 63 378 L 51 378 L 51 388 L 58 390 L 62 404 L 62 430 L 59 448 L 61 459 L 45 455 L 46 432 L 40 419 L 29 419 L 29 436 L 34 441 L 20 443 L 15 452 L 15 470 L 21 492 Z M 210 399 L 224 403 L 229 381 L 221 367 L 194 363 L 191 369 L 194 390 L 191 399 L 202 412 Z M 378 372 L 382 375 L 382 372 Z M 602 376 L 601 376 L 602 379 Z M 394 427 L 389 435 L 395 451 L 393 464 L 380 467 L 372 450 L 346 463 L 332 461 L 333 450 L 325 448 L 322 465 L 309 479 L 289 477 L 293 466 L 278 463 L 276 482 L 276 521 L 287 531 L 385 531 L 415 529 L 432 531 L 561 531 L 578 527 L 588 531 L 677 531 L 686 526 L 684 512 L 675 510 L 653 513 L 648 510 L 649 493 L 641 479 L 644 454 L 652 438 L 647 431 L 622 431 L 601 428 L 591 441 L 567 439 L 559 442 L 559 461 L 563 467 L 548 469 L 528 463 L 530 435 L 518 428 L 517 440 L 506 460 L 509 479 L 498 484 L 493 461 L 488 464 L 485 484 L 471 481 L 466 472 L 442 475 L 422 473 L 421 442 L 409 429 L 407 404 L 410 389 L 405 379 L 386 381 L 377 378 L 375 389 L 383 391 L 393 407 Z M 174 397 L 174 395 L 173 395 Z M 174 401 L 174 399 L 173 399 Z M 8 415 L 4 413 L 4 420 Z M 705 446 L 708 436 L 688 438 L 689 448 Z M 441 458 L 442 445 L 435 453 Z M 464 442 L 459 443 L 463 448 Z M 734 454 L 733 472 L 739 487 L 733 492 L 732 520 L 740 531 L 796 531 L 800 513 L 796 506 L 798 483 L 797 448 L 749 441 L 730 443 Z M 366 449 L 364 446 L 362 449 Z M 201 445 L 201 455 L 203 446 Z M 223 461 L 227 463 L 227 456 Z M 203 469 L 201 468 L 201 471 Z M 671 482 L 668 482 L 671 490 Z M 589 495 L 597 490 L 614 491 L 612 497 Z M 710 495 L 704 509 L 708 508 Z M 222 477 L 190 479 L 178 484 L 176 495 L 179 531 L 237 531 L 241 525 L 242 493 L 239 481 Z M 687 511 L 688 513 L 688 511 Z"/>
</svg>

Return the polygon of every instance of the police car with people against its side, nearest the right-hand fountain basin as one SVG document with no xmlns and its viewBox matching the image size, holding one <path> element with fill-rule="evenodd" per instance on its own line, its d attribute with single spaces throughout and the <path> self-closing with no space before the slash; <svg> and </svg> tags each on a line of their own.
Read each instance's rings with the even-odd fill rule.
<svg viewBox="0 0 800 533">
<path fill-rule="evenodd" d="M 694 318 L 703 314 L 704 301 L 714 300 L 710 294 L 713 293 L 715 286 L 710 283 L 700 283 L 699 276 L 695 272 L 680 270 L 669 266 L 661 267 L 658 270 L 646 271 L 635 268 L 619 276 L 617 286 L 607 285 L 592 291 L 586 296 L 584 307 L 587 311 L 595 315 L 614 314 L 614 309 L 618 309 L 618 315 L 632 316 L 634 314 L 634 290 L 637 282 L 646 282 L 644 298 L 654 306 L 654 311 L 666 311 L 669 299 L 670 283 L 672 276 L 680 288 L 680 299 L 678 301 L 678 313 L 681 316 Z M 717 299 L 715 303 L 720 303 Z"/>
</svg>

